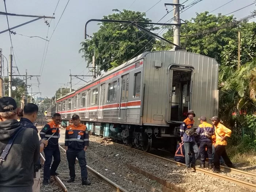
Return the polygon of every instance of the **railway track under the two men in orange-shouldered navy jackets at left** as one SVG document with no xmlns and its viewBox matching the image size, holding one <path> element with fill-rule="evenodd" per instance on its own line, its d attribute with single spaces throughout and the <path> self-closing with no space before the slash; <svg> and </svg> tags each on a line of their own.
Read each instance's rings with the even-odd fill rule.
<svg viewBox="0 0 256 192">
<path fill-rule="evenodd" d="M 38 123 L 38 121 L 37 121 L 37 123 Z M 44 119 L 43 118 L 42 118 L 42 127 L 44 127 Z M 79 191 L 79 192 L 82 192 L 82 191 L 129 192 L 126 189 L 124 189 L 123 187 L 121 187 L 120 185 L 117 185 L 115 182 L 109 180 L 107 177 L 98 173 L 96 170 L 92 169 L 89 166 L 87 166 L 87 171 L 89 173 L 89 177 L 93 177 L 93 178 L 90 178 L 92 180 L 91 186 L 88 187 L 88 186 L 80 185 L 80 183 L 64 182 L 64 179 L 67 179 L 67 177 L 69 176 L 67 162 L 65 162 L 66 161 L 66 158 L 65 158 L 66 151 L 63 147 L 61 147 L 61 146 L 59 146 L 59 147 L 60 147 L 60 150 L 62 151 L 60 166 L 63 166 L 63 167 L 61 167 L 61 169 L 64 168 L 65 171 L 63 170 L 63 172 L 59 172 L 60 175 L 55 176 L 55 181 L 56 181 L 57 185 L 59 185 L 59 187 L 61 188 L 62 191 L 64 191 L 64 192 L 76 192 L 76 191 Z M 42 159 L 42 162 L 45 162 L 44 155 L 40 154 L 40 157 Z M 77 158 L 76 158 L 76 161 L 78 162 Z M 78 165 L 78 163 L 76 163 L 76 165 Z M 76 166 L 76 170 L 80 172 L 80 167 Z M 76 180 L 78 180 L 78 179 L 76 179 Z"/>
</svg>

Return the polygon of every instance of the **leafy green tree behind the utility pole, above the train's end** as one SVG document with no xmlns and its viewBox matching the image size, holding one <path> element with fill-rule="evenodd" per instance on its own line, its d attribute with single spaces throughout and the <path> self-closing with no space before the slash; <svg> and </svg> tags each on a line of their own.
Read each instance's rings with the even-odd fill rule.
<svg viewBox="0 0 256 192">
<path fill-rule="evenodd" d="M 214 58 L 221 63 L 221 53 L 223 47 L 230 41 L 237 38 L 237 25 L 230 25 L 218 31 L 202 33 L 213 30 L 216 27 L 225 26 L 227 23 L 235 22 L 233 16 L 223 16 L 222 14 L 212 15 L 208 11 L 196 13 L 195 18 L 186 20 L 186 24 L 181 26 L 181 46 L 187 48 L 188 52 L 203 54 Z M 168 31 L 164 38 L 173 42 L 173 29 L 167 27 Z M 156 50 L 170 50 L 172 46 L 167 46 L 162 42 L 155 44 Z"/>
</svg>

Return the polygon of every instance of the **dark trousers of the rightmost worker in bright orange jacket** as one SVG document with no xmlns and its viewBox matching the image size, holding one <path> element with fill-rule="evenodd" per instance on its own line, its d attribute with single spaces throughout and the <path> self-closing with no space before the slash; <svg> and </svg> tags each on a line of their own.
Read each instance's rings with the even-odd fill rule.
<svg viewBox="0 0 256 192">
<path fill-rule="evenodd" d="M 213 157 L 213 164 L 214 164 L 214 169 L 217 171 L 220 171 L 221 169 L 219 168 L 219 159 L 223 158 L 226 165 L 228 167 L 232 167 L 233 164 L 230 161 L 229 157 L 227 156 L 226 153 L 226 146 L 225 145 L 217 145 L 217 147 L 215 148 L 215 153 L 214 153 L 214 157 Z"/>
</svg>

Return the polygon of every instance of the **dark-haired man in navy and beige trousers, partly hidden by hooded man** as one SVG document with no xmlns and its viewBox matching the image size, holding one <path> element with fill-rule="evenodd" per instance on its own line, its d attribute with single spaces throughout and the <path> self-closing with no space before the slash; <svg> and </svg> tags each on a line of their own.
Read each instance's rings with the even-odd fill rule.
<svg viewBox="0 0 256 192">
<path fill-rule="evenodd" d="M 38 130 L 33 124 L 33 122 L 37 118 L 38 113 L 38 106 L 34 103 L 27 103 L 24 106 L 23 110 L 23 117 L 20 119 L 20 124 L 23 125 L 24 128 L 32 128 L 37 133 Z M 40 141 L 40 153 L 44 150 L 44 148 L 47 146 L 48 140 L 42 139 Z M 40 158 L 38 159 L 37 163 L 34 163 L 34 184 L 33 184 L 33 192 L 39 192 L 40 191 L 40 169 L 41 169 L 41 163 Z"/>
</svg>

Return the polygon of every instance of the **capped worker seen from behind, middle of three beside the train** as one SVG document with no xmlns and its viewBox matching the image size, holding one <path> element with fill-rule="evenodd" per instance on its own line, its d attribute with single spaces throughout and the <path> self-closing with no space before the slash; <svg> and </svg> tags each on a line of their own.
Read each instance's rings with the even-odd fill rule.
<svg viewBox="0 0 256 192">
<path fill-rule="evenodd" d="M 212 135 L 214 135 L 214 129 L 211 124 L 206 122 L 206 117 L 202 116 L 198 120 L 200 120 L 200 125 L 196 129 L 197 135 L 199 135 L 200 142 L 200 160 L 201 160 L 201 168 L 205 168 L 205 152 L 207 148 L 208 154 L 208 167 L 212 169 Z"/>
</svg>

